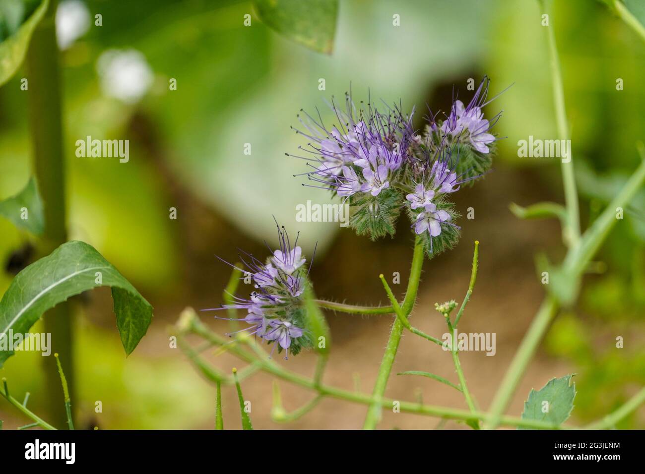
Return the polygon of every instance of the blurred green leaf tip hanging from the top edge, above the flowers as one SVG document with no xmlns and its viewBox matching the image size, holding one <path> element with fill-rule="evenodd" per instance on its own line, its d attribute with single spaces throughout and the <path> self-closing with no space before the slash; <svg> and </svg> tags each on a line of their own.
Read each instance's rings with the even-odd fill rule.
<svg viewBox="0 0 645 474">
<path fill-rule="evenodd" d="M 279 34 L 331 54 L 338 0 L 254 0 L 257 16 Z"/>
</svg>

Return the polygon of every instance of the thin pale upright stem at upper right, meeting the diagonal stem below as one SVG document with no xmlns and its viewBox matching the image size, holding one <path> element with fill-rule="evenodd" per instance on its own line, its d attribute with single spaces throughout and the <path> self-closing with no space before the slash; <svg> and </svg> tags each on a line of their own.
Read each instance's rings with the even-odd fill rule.
<svg viewBox="0 0 645 474">
<path fill-rule="evenodd" d="M 552 15 L 549 15 L 551 17 Z M 562 85 L 562 74 L 560 71 L 560 60 L 558 57 L 557 44 L 555 43 L 555 32 L 553 25 L 549 25 L 547 37 L 549 43 L 549 55 L 551 66 L 551 83 L 553 84 L 553 105 L 555 106 L 555 123 L 557 125 L 559 139 L 569 139 L 568 124 L 566 120 L 566 108 L 564 106 L 564 86 Z M 575 247 L 580 239 L 580 217 L 578 209 L 578 192 L 576 190 L 575 175 L 573 173 L 573 157 L 569 150 L 568 161 L 561 160 L 562 183 L 564 184 L 564 202 L 567 211 L 567 226 L 565 229 L 566 245 Z"/>
</svg>

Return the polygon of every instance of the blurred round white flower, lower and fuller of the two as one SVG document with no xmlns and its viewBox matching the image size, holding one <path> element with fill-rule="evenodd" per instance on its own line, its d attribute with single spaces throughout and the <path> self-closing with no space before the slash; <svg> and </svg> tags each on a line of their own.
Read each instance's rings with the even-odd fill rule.
<svg viewBox="0 0 645 474">
<path fill-rule="evenodd" d="M 96 70 L 103 94 L 128 104 L 139 101 L 152 85 L 152 69 L 137 50 L 106 50 Z"/>
</svg>

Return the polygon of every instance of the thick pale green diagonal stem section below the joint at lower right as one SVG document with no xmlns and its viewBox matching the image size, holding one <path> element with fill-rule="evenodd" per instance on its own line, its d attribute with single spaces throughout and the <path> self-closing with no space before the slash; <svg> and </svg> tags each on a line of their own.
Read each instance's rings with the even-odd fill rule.
<svg viewBox="0 0 645 474">
<path fill-rule="evenodd" d="M 524 335 L 524 339 L 513 357 L 510 367 L 504 375 L 501 385 L 497 389 L 495 398 L 490 406 L 490 413 L 492 415 L 490 424 L 484 425 L 484 429 L 494 430 L 499 424 L 501 419 L 502 412 L 506 409 L 508 402 L 510 401 L 517 384 L 519 384 L 524 375 L 524 370 L 528 366 L 528 362 L 533 357 L 535 350 L 537 349 L 538 344 L 542 339 L 542 335 L 548 328 L 551 319 L 557 311 L 557 302 L 551 296 L 546 297 L 542 302 L 542 306 L 537 311 L 533 322 L 531 322 L 528 332 Z"/>
</svg>

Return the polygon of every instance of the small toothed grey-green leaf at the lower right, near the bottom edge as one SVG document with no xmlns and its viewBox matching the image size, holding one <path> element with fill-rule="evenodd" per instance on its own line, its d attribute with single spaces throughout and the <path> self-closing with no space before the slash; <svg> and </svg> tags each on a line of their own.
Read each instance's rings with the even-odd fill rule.
<svg viewBox="0 0 645 474">
<path fill-rule="evenodd" d="M 575 398 L 575 384 L 571 377 L 573 375 L 551 379 L 540 390 L 531 390 L 528 400 L 524 402 L 522 420 L 539 420 L 556 425 L 564 423 L 571 415 Z"/>
</svg>

